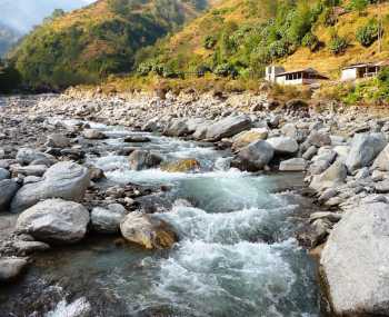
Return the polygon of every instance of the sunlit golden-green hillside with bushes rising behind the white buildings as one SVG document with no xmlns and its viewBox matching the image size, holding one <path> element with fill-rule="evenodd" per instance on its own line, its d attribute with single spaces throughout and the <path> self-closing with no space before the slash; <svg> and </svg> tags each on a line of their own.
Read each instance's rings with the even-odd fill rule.
<svg viewBox="0 0 389 317">
<path fill-rule="evenodd" d="M 383 31 L 378 52 L 380 17 L 388 30 L 387 1 L 225 0 L 144 49 L 138 72 L 260 78 L 267 65 L 278 63 L 287 69 L 315 67 L 337 78 L 345 65 L 389 58 L 389 32 Z"/>
</svg>

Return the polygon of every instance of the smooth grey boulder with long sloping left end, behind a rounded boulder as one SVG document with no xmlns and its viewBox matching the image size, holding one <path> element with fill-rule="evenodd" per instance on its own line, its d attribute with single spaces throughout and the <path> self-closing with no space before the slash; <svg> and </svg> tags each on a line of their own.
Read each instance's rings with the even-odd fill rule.
<svg viewBox="0 0 389 317">
<path fill-rule="evenodd" d="M 90 185 L 87 168 L 70 161 L 58 162 L 50 167 L 41 181 L 24 185 L 14 196 L 12 212 L 20 212 L 39 200 L 62 198 L 80 201 Z"/>
</svg>

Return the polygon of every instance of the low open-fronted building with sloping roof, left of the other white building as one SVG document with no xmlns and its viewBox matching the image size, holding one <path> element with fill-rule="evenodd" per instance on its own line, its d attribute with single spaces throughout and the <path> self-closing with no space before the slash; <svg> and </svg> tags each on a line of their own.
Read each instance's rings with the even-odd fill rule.
<svg viewBox="0 0 389 317">
<path fill-rule="evenodd" d="M 312 85 L 319 80 L 329 78 L 319 73 L 313 68 L 298 69 L 276 75 L 276 82 L 279 85 Z"/>
</svg>

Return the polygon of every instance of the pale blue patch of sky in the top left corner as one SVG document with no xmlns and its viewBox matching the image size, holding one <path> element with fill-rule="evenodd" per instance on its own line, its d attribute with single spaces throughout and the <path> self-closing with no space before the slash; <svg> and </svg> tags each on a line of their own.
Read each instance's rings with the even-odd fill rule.
<svg viewBox="0 0 389 317">
<path fill-rule="evenodd" d="M 91 2 L 94 0 L 0 0 L 0 22 L 23 34 L 54 9 L 69 11 Z"/>
</svg>

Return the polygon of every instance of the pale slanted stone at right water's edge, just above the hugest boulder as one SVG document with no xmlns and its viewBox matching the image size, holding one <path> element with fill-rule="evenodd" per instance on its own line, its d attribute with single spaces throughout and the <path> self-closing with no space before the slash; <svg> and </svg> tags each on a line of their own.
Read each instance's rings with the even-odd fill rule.
<svg viewBox="0 0 389 317">
<path fill-rule="evenodd" d="M 343 184 L 346 178 L 346 165 L 342 161 L 337 160 L 322 174 L 313 176 L 312 181 L 309 186 L 317 191 L 322 191 L 325 189 Z"/>
</svg>

